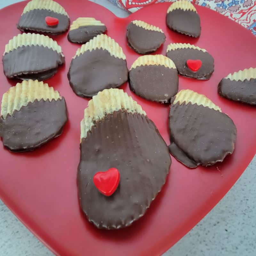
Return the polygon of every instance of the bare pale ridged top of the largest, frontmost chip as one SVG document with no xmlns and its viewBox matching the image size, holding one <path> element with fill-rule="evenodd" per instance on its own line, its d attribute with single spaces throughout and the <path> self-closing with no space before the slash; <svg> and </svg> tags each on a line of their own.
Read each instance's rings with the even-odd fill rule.
<svg viewBox="0 0 256 256">
<path fill-rule="evenodd" d="M 82 138 L 86 138 L 87 132 L 91 131 L 97 120 L 101 120 L 107 114 L 113 114 L 114 111 L 118 110 L 126 110 L 128 113 L 140 113 L 146 116 L 146 112 L 142 110 L 141 106 L 123 90 L 105 89 L 93 96 L 92 100 L 88 102 L 88 107 L 84 109 L 80 142 Z"/>
</svg>

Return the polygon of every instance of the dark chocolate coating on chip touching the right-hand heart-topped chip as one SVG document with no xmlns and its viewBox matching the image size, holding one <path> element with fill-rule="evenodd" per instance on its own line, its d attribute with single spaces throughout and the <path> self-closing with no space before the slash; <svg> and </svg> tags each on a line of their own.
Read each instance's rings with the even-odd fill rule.
<svg viewBox="0 0 256 256">
<path fill-rule="evenodd" d="M 130 70 L 129 84 L 138 96 L 167 103 L 178 92 L 178 72 L 161 65 L 138 66 Z"/>
</svg>

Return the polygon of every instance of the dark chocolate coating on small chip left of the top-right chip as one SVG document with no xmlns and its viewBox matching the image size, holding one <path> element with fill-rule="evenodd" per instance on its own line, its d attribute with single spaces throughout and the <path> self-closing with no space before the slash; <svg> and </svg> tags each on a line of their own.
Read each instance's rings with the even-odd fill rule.
<svg viewBox="0 0 256 256">
<path fill-rule="evenodd" d="M 155 52 L 166 39 L 164 33 L 141 28 L 132 22 L 127 26 L 126 37 L 130 47 L 140 54 Z"/>
</svg>

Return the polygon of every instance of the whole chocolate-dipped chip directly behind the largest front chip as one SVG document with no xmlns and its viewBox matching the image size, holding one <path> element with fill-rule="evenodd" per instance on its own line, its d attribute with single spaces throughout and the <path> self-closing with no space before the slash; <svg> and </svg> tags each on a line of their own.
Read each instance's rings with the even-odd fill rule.
<svg viewBox="0 0 256 256">
<path fill-rule="evenodd" d="M 68 80 L 76 95 L 88 98 L 104 89 L 121 86 L 128 80 L 122 48 L 107 35 L 94 37 L 77 50 L 70 63 Z"/>
</svg>

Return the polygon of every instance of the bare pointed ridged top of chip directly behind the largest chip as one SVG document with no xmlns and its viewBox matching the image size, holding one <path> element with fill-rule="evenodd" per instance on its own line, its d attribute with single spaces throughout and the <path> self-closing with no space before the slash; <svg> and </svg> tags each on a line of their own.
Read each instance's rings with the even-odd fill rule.
<svg viewBox="0 0 256 256">
<path fill-rule="evenodd" d="M 73 59 L 75 59 L 77 56 L 83 54 L 86 51 L 92 52 L 92 50 L 96 49 L 107 50 L 111 56 L 126 60 L 122 47 L 119 44 L 117 44 L 114 39 L 103 34 L 98 35 L 86 44 L 83 44 L 81 48 L 79 48 L 76 51 L 76 55 L 73 57 Z"/>
</svg>

